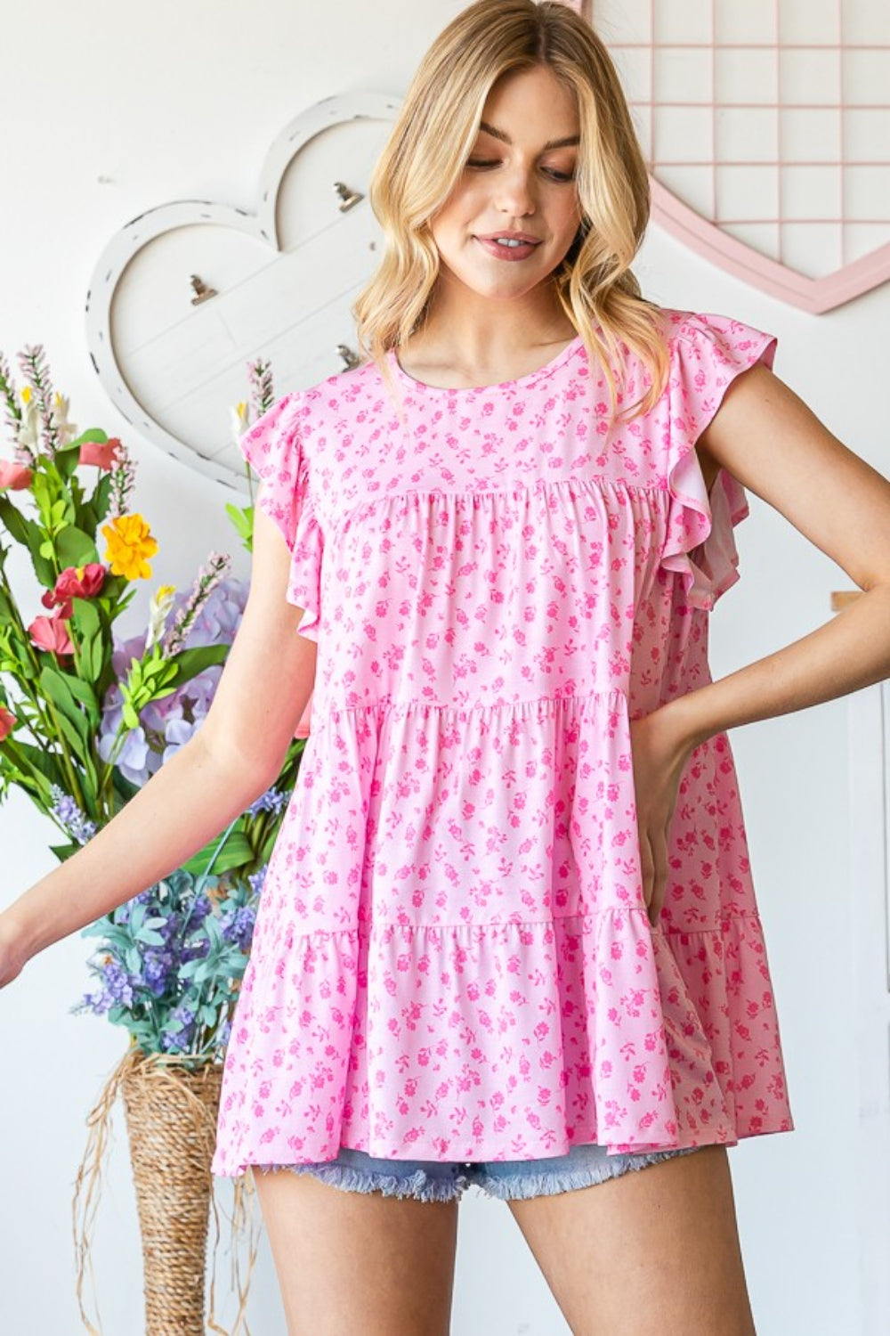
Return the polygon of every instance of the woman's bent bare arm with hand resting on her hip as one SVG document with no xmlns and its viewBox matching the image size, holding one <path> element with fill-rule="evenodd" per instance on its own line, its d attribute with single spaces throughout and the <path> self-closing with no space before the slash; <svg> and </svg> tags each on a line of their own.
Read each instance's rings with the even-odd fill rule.
<svg viewBox="0 0 890 1336">
<path fill-rule="evenodd" d="M 825 625 L 664 709 L 697 745 L 714 733 L 890 677 L 890 481 L 765 366 L 739 375 L 699 438 L 865 591 Z M 771 597 L 785 597 L 773 585 Z"/>
</svg>

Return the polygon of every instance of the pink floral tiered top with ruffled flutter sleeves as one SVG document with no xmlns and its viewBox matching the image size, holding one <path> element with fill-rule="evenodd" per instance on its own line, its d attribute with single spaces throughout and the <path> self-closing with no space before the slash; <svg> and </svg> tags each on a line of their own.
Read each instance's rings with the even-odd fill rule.
<svg viewBox="0 0 890 1336">
<path fill-rule="evenodd" d="M 318 661 L 213 1173 L 793 1129 L 726 733 L 686 766 L 655 927 L 643 899 L 628 721 L 710 680 L 747 514 L 694 444 L 775 353 L 667 315 L 670 383 L 612 430 L 576 337 L 478 389 L 390 353 L 407 430 L 366 362 L 243 437 Z"/>
</svg>

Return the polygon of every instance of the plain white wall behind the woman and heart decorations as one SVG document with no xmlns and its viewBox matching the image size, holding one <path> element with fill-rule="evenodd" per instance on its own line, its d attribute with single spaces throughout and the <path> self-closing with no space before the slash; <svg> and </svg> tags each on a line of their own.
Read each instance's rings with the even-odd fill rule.
<svg viewBox="0 0 890 1336">
<path fill-rule="evenodd" d="M 211 548 L 236 550 L 223 513 L 228 493 L 133 440 L 107 402 L 83 326 L 96 255 L 124 222 L 157 203 L 203 198 L 250 207 L 266 148 L 287 120 L 334 92 L 403 92 L 427 43 L 459 8 L 444 0 L 4 7 L 0 349 L 12 361 L 25 343 L 43 342 L 75 421 L 136 448 L 140 508 L 160 538 L 159 578 L 185 584 Z M 777 333 L 777 373 L 854 450 L 890 472 L 886 370 L 877 353 L 882 335 L 886 347 L 890 287 L 830 315 L 805 315 L 658 228 L 639 274 L 666 305 L 735 314 Z M 751 510 L 739 529 L 742 581 L 713 619 L 715 676 L 829 620 L 830 591 L 851 587 L 757 497 Z M 759 1336 L 855 1331 L 846 708 L 837 701 L 733 733 L 797 1121 L 791 1134 L 730 1152 Z M 52 866 L 49 836 L 17 796 L 0 810 L 0 904 Z M 125 1047 L 121 1029 L 68 1014 L 87 987 L 91 945 L 79 935 L 57 943 L 0 994 L 0 1328 L 28 1336 L 81 1331 L 73 1178 L 87 1113 Z M 95 1271 L 103 1331 L 135 1336 L 143 1329 L 141 1264 L 120 1110 L 115 1126 Z M 228 1184 L 219 1186 L 228 1209 Z M 224 1257 L 217 1291 L 227 1284 Z M 226 1305 L 223 1320 L 232 1311 Z M 504 1204 L 475 1193 L 462 1213 L 454 1312 L 456 1336 L 566 1332 Z M 248 1317 L 262 1336 L 284 1332 L 264 1238 Z"/>
</svg>

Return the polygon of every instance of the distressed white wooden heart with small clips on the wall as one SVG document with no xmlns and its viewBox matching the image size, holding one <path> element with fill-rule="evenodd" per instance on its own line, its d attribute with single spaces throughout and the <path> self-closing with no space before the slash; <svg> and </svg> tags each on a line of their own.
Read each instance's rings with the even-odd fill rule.
<svg viewBox="0 0 890 1336">
<path fill-rule="evenodd" d="M 143 436 L 246 489 L 231 409 L 248 398 L 248 362 L 271 363 L 278 394 L 348 365 L 350 306 L 382 242 L 367 182 L 400 103 L 326 98 L 272 144 L 255 210 L 177 200 L 111 239 L 87 295 L 87 339 L 104 389 Z M 352 192 L 363 198 L 342 208 Z"/>
</svg>

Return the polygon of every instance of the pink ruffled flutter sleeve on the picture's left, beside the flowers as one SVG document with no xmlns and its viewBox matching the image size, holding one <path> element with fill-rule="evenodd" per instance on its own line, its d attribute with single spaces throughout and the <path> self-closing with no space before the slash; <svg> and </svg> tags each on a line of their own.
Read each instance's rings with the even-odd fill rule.
<svg viewBox="0 0 890 1336">
<path fill-rule="evenodd" d="M 324 541 L 300 444 L 300 414 L 299 391 L 286 394 L 244 432 L 239 445 L 260 478 L 256 505 L 275 521 L 291 553 L 287 599 L 303 608 L 296 629 L 318 641 Z"/>
</svg>

